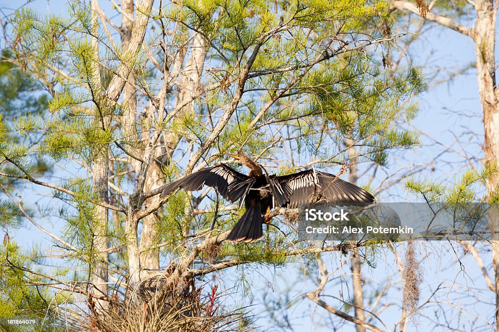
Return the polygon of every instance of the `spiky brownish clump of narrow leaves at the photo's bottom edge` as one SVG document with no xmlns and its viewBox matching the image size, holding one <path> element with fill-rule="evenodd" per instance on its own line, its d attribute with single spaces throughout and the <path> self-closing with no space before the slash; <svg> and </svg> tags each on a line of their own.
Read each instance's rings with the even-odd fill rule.
<svg viewBox="0 0 499 332">
<path fill-rule="evenodd" d="M 113 301 L 103 310 L 73 317 L 72 328 L 84 332 L 215 332 L 250 331 L 249 319 L 239 312 L 222 308 L 223 294 L 212 286 L 208 292 L 196 288 L 194 279 L 187 290 L 158 291 L 149 300 L 131 295 Z M 205 293 L 203 295 L 203 293 Z"/>
</svg>

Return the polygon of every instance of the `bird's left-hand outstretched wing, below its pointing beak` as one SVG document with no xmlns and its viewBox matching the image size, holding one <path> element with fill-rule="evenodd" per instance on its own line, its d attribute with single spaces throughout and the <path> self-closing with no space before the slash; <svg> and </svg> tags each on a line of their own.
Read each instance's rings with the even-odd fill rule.
<svg viewBox="0 0 499 332">
<path fill-rule="evenodd" d="M 220 164 L 201 169 L 170 183 L 161 193 L 161 197 L 165 197 L 177 188 L 196 191 L 207 185 L 217 188 L 218 192 L 232 203 L 245 196 L 254 181 L 254 178 Z"/>
</svg>

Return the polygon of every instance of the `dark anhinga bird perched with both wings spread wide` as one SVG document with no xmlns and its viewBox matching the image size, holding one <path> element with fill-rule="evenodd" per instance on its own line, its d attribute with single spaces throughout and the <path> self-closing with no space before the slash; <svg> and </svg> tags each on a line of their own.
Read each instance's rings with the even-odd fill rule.
<svg viewBox="0 0 499 332">
<path fill-rule="evenodd" d="M 369 203 L 373 195 L 366 190 L 343 181 L 333 174 L 314 169 L 303 170 L 294 174 L 265 176 L 258 166 L 244 153 L 229 156 L 250 168 L 248 175 L 231 167 L 219 164 L 207 167 L 187 175 L 168 185 L 161 197 L 165 197 L 177 188 L 196 191 L 203 185 L 217 188 L 229 202 L 241 199 L 246 212 L 238 221 L 229 241 L 254 242 L 263 236 L 263 215 L 270 211 L 273 202 L 281 207 L 297 208 L 299 204 L 311 202 L 328 203 Z"/>
</svg>

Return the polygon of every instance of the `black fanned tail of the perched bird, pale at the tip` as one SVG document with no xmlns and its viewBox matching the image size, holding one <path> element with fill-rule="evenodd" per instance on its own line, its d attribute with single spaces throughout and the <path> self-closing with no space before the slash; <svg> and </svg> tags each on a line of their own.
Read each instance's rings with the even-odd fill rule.
<svg viewBox="0 0 499 332">
<path fill-rule="evenodd" d="M 260 205 L 250 206 L 227 236 L 228 241 L 254 242 L 263 236 Z"/>
</svg>

